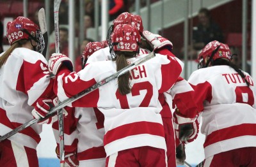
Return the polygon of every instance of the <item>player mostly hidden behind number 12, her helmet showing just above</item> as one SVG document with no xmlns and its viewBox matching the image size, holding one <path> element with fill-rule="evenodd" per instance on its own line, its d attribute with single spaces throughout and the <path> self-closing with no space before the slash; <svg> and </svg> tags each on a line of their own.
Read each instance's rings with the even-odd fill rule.
<svg viewBox="0 0 256 167">
<path fill-rule="evenodd" d="M 167 47 L 170 51 L 172 51 L 173 45 L 172 42 L 167 40 L 166 38 L 163 38 L 162 36 L 159 36 L 158 34 L 152 34 L 148 31 L 144 31 L 143 33 L 143 23 L 141 20 L 141 17 L 139 15 L 132 15 L 131 13 L 124 12 L 120 14 L 114 21 L 113 25 L 109 28 L 108 31 L 108 43 L 111 43 L 111 33 L 113 33 L 113 29 L 115 29 L 116 25 L 118 24 L 130 24 L 130 25 L 136 25 L 137 29 L 140 31 L 140 34 L 143 34 L 144 38 L 148 41 L 146 44 L 147 48 L 140 48 L 140 55 L 148 54 L 152 50 L 157 50 L 157 48 L 161 47 Z M 142 43 L 142 41 L 141 41 Z M 148 46 L 148 43 L 150 46 Z M 110 51 L 109 51 L 110 50 Z M 93 53 L 88 58 L 88 61 L 86 63 L 90 62 L 97 62 L 97 61 L 106 61 L 111 60 L 111 50 L 109 47 L 100 49 L 99 51 Z M 151 50 L 151 51 L 150 51 Z M 163 110 L 161 111 L 161 116 L 163 118 L 163 124 L 164 124 L 164 133 L 166 138 L 166 145 L 167 145 L 167 156 L 168 156 L 168 166 L 176 166 L 175 159 L 176 159 L 176 152 L 175 147 L 179 146 L 179 144 L 183 145 L 179 142 L 179 140 L 176 140 L 177 145 L 175 146 L 175 134 L 173 129 L 173 123 L 172 123 L 172 99 L 173 103 L 177 105 L 179 108 L 180 114 L 183 117 L 189 117 L 191 119 L 195 118 L 197 112 L 196 112 L 196 105 L 193 101 L 193 89 L 189 85 L 189 83 L 184 80 L 183 78 L 179 77 L 175 85 L 173 85 L 172 89 L 169 91 L 171 92 L 172 96 L 170 94 L 160 94 L 159 95 L 159 101 L 161 105 L 163 106 Z M 175 106 L 174 105 L 174 106 Z M 193 124 L 191 122 L 192 120 L 188 120 L 188 124 Z M 198 124 L 196 120 L 196 124 Z M 179 136 L 179 124 L 176 124 L 177 129 L 177 136 Z M 195 127 L 196 128 L 196 127 Z M 194 133 L 197 134 L 198 129 L 195 129 Z M 196 136 L 193 136 L 193 139 L 195 139 Z M 193 141 L 192 138 L 190 138 L 189 142 Z M 180 148 L 180 147 L 179 147 Z M 184 150 L 182 150 L 184 153 Z M 179 155 L 178 155 L 179 157 Z M 185 157 L 182 157 L 181 159 L 184 159 Z M 177 159 L 177 162 L 182 163 L 184 160 Z"/>
</svg>

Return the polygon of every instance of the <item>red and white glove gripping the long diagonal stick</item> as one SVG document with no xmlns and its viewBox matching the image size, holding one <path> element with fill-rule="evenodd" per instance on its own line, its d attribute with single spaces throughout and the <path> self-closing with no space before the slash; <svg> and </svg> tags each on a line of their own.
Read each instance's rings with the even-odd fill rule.
<svg viewBox="0 0 256 167">
<path fill-rule="evenodd" d="M 58 105 L 58 98 L 54 99 L 38 99 L 36 102 L 35 108 L 32 110 L 32 115 L 35 117 L 35 119 L 43 119 L 48 113 L 49 110 L 53 107 Z M 67 112 L 63 108 L 63 114 L 67 116 Z M 42 120 L 38 122 L 38 124 L 52 124 L 58 120 L 58 115 L 54 115 L 50 117 L 49 119 Z"/>
</svg>

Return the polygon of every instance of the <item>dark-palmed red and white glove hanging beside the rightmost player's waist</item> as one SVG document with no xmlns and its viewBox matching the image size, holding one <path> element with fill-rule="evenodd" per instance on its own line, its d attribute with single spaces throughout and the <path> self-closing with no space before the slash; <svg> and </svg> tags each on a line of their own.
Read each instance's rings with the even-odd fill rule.
<svg viewBox="0 0 256 167">
<path fill-rule="evenodd" d="M 177 110 L 173 113 L 173 123 L 175 134 L 182 143 L 193 142 L 199 131 L 198 115 L 194 119 L 190 119 L 180 115 Z"/>
</svg>

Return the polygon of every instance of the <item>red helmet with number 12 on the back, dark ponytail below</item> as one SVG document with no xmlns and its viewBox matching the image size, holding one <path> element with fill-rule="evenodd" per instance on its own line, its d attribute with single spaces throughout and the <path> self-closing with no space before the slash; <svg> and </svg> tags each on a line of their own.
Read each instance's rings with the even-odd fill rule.
<svg viewBox="0 0 256 167">
<path fill-rule="evenodd" d="M 119 24 L 116 25 L 111 35 L 111 45 L 113 51 L 139 52 L 140 33 L 134 25 Z M 113 54 L 115 57 L 115 54 Z"/>
</svg>

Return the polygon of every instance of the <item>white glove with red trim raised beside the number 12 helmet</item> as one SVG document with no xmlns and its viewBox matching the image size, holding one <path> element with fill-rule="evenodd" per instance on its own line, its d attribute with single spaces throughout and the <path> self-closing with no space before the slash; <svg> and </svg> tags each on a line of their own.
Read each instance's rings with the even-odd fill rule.
<svg viewBox="0 0 256 167">
<path fill-rule="evenodd" d="M 148 41 L 148 43 L 153 45 L 154 52 L 157 49 L 163 48 L 163 47 L 168 48 L 168 50 L 172 52 L 172 48 L 173 48 L 172 42 L 167 40 L 166 38 L 163 38 L 163 36 L 159 34 L 150 33 L 149 31 L 143 31 L 142 36 L 143 38 L 145 38 L 145 40 Z"/>
</svg>

